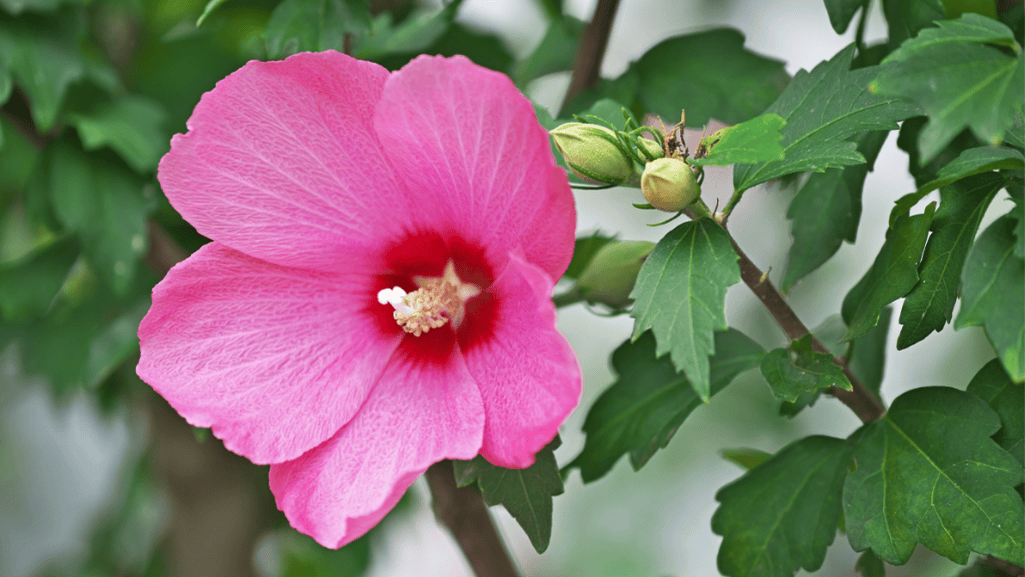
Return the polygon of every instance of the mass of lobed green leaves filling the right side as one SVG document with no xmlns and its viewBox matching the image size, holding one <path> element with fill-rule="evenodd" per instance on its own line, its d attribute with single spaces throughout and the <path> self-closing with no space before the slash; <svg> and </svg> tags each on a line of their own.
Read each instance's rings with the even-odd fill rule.
<svg viewBox="0 0 1025 577">
<path fill-rule="evenodd" d="M 716 495 L 712 530 L 724 537 L 726 575 L 817 570 L 845 526 L 851 546 L 866 551 L 865 574 L 881 575 L 881 561 L 907 563 L 917 543 L 960 564 L 973 552 L 1025 562 L 1023 11 L 996 18 L 987 2 L 976 4 L 993 8 L 988 16 L 961 14 L 953 3 L 908 4 L 884 1 L 890 39 L 865 46 L 868 0 L 826 0 L 837 33 L 860 11 L 858 41 L 789 82 L 744 50 L 736 33 L 712 31 L 664 41 L 570 102 L 614 97 L 634 113 L 672 118 L 686 108 L 688 123 L 736 123 L 705 138 L 708 155 L 692 161 L 735 165 L 727 211 L 752 187 L 810 172 L 787 213 L 793 244 L 784 290 L 855 241 L 865 177 L 890 131 L 900 130 L 918 186 L 893 199 L 883 248 L 840 315 L 815 336 L 770 352 L 728 328 L 726 290 L 741 281 L 729 234 L 710 218 L 666 234 L 638 275 L 633 335 L 612 358 L 618 378 L 590 407 L 586 444 L 567 465 L 584 482 L 623 454 L 641 468 L 700 401 L 746 369 L 761 369 L 784 415 L 822 393 L 852 390 L 854 377 L 877 400 L 888 305 L 900 298 L 898 348 L 953 321 L 958 329 L 982 326 L 996 354 L 967 391 L 912 389 L 848 439 L 813 436 L 775 455 L 732 456 L 749 470 Z M 722 74 L 726 53 L 736 74 Z M 716 91 L 716 83 L 730 90 Z M 926 203 L 936 190 L 938 205 Z M 1010 211 L 978 235 L 1001 191 Z M 816 337 L 829 354 L 813 345 Z"/>
</svg>

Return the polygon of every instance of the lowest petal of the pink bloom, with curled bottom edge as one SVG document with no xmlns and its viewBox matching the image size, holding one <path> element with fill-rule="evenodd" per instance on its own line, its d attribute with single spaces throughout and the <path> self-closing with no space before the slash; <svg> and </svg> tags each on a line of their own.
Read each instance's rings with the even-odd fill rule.
<svg viewBox="0 0 1025 577">
<path fill-rule="evenodd" d="M 292 527 L 339 547 L 376 525 L 430 464 L 477 455 L 483 428 L 481 395 L 457 351 L 442 363 L 400 351 L 356 418 L 271 466 L 271 491 Z"/>
</svg>

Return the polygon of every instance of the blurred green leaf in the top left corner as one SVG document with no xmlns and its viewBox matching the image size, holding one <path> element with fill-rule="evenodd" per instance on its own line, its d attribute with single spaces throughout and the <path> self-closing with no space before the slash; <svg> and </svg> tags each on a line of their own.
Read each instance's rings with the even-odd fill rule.
<svg viewBox="0 0 1025 577">
<path fill-rule="evenodd" d="M 60 23 L 63 24 L 63 23 Z M 29 98 L 32 119 L 40 132 L 53 127 L 68 87 L 85 78 L 86 63 L 69 35 L 0 23 L 0 60 L 6 60 L 14 82 Z"/>
</svg>

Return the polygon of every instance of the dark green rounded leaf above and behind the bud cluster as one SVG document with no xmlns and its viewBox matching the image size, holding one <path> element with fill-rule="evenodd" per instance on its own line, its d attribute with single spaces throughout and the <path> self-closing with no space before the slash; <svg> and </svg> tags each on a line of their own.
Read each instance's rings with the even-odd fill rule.
<svg viewBox="0 0 1025 577">
<path fill-rule="evenodd" d="M 789 76 L 783 63 L 744 49 L 744 35 L 709 30 L 663 40 L 630 67 L 639 75 L 637 97 L 665 119 L 687 111 L 687 126 L 709 119 L 737 124 L 762 114 Z"/>
</svg>

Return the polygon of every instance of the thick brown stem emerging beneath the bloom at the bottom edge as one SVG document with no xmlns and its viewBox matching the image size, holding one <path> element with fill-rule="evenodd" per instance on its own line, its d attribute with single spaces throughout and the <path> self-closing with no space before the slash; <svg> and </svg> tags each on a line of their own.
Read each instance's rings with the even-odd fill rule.
<svg viewBox="0 0 1025 577">
<path fill-rule="evenodd" d="M 455 485 L 452 461 L 427 469 L 435 516 L 448 527 L 477 577 L 518 577 L 487 505 L 476 487 Z"/>
</svg>

